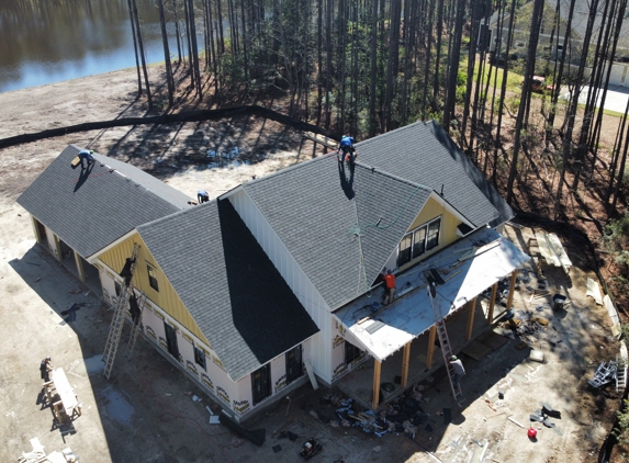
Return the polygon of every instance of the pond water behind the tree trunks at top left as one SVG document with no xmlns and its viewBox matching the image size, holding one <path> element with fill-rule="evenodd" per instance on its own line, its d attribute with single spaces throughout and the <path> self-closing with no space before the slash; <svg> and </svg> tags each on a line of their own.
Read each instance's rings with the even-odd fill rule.
<svg viewBox="0 0 629 463">
<path fill-rule="evenodd" d="M 136 1 L 146 60 L 164 61 L 159 10 Z M 128 16 L 127 0 L 1 0 L 0 92 L 135 67 Z"/>
</svg>

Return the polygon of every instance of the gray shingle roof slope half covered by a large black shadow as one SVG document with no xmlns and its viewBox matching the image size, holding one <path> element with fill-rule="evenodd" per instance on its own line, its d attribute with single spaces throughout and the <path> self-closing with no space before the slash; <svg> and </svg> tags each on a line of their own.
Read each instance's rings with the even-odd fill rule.
<svg viewBox="0 0 629 463">
<path fill-rule="evenodd" d="M 229 201 L 137 230 L 234 381 L 318 331 Z"/>
</svg>

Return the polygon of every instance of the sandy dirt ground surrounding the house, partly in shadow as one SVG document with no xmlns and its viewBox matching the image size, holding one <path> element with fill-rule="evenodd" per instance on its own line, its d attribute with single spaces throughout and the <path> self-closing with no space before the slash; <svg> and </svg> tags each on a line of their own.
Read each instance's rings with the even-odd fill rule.
<svg viewBox="0 0 629 463">
<path fill-rule="evenodd" d="M 4 115 L 0 137 L 142 115 L 146 108 L 135 101 L 135 72 L 126 70 L 0 93 Z M 614 387 L 588 388 L 587 380 L 602 361 L 616 358 L 618 342 L 610 335 L 606 310 L 585 296 L 586 278 L 595 275 L 583 252 L 572 247 L 566 247 L 574 263 L 570 278 L 555 269 L 544 269 L 546 281 L 538 280 L 532 268 L 519 273 L 514 308 L 516 318 L 530 327 L 529 334 L 520 339 L 497 326 L 508 337 L 504 346 L 481 360 L 462 355 L 468 370 L 462 408 L 451 403 L 443 372 L 428 373 L 433 381 L 423 382 L 424 414 L 415 421 L 419 425 L 415 440 L 404 432 L 378 438 L 358 428 L 324 425 L 310 411 L 334 416 L 332 405 L 322 400 L 330 392 L 313 392 L 305 385 L 291 393 L 288 413 L 285 403 L 279 403 L 245 424 L 267 431 L 266 443 L 256 447 L 221 425 L 209 425 L 204 406 L 210 398 L 143 340 L 132 361 L 119 352 L 112 380 L 104 380 L 100 354 L 111 310 L 35 244 L 30 218 L 14 202 L 69 143 L 130 161 L 191 196 L 200 188 L 215 196 L 314 153 L 312 143 L 303 142 L 299 133 L 255 120 L 121 127 L 0 150 L 1 461 L 16 461 L 22 451 L 31 450 L 30 439 L 37 437 L 48 452 L 70 447 L 83 463 L 294 462 L 310 436 L 324 445 L 313 462 L 595 460 L 619 397 Z M 212 162 L 207 150 L 229 153 L 235 147 L 238 166 L 229 160 L 207 168 Z M 531 234 L 530 228 L 507 227 L 507 232 L 519 246 Z M 551 294 L 568 294 L 566 310 L 553 312 L 550 297 L 531 298 L 531 290 L 540 284 Z M 63 312 L 74 303 L 81 309 L 71 321 Z M 527 321 L 532 316 L 547 318 L 549 325 Z M 521 350 L 516 348 L 520 340 L 527 343 Z M 543 363 L 528 360 L 531 347 L 544 353 Z M 46 355 L 64 368 L 82 404 L 74 429 L 54 428 L 52 411 L 42 403 L 38 364 Z M 203 400 L 193 402 L 192 394 Z M 555 429 L 535 424 L 538 438 L 530 441 L 529 415 L 542 403 L 560 410 L 561 419 L 553 419 Z M 451 422 L 445 419 L 445 409 L 451 410 Z M 280 439 L 284 430 L 299 439 Z M 281 450 L 274 453 L 278 444 Z"/>
</svg>

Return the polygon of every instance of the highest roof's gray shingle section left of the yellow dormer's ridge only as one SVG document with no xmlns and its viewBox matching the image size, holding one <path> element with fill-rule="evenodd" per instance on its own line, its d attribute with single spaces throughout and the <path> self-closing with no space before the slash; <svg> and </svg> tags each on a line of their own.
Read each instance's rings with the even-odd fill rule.
<svg viewBox="0 0 629 463">
<path fill-rule="evenodd" d="M 244 185 L 333 309 L 371 286 L 431 193 L 363 165 L 344 182 L 339 166 L 321 157 Z"/>
</svg>

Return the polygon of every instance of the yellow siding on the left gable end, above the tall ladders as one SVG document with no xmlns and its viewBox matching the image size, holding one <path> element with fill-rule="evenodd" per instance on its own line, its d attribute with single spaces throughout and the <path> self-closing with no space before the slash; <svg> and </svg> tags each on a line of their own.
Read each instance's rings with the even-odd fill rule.
<svg viewBox="0 0 629 463">
<path fill-rule="evenodd" d="M 133 278 L 134 286 L 145 293 L 149 301 L 158 305 L 168 315 L 183 325 L 201 341 L 211 346 L 137 233 L 115 246 L 113 249 L 103 252 L 99 256 L 99 259 L 109 266 L 110 269 L 115 270 L 115 272 L 120 272 L 122 271 L 125 259 L 131 257 L 133 252 L 134 242 L 137 242 L 141 246 L 135 275 Z M 148 283 L 147 264 L 151 266 L 156 270 L 159 292 L 150 287 L 150 284 Z"/>
</svg>

